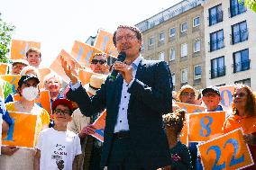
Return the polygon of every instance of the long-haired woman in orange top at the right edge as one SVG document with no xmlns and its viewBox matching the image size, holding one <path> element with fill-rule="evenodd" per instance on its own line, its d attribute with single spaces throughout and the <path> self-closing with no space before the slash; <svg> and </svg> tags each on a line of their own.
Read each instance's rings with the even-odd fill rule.
<svg viewBox="0 0 256 170">
<path fill-rule="evenodd" d="M 256 139 L 256 99 L 247 85 L 236 85 L 233 94 L 233 114 L 224 122 L 224 133 L 242 128 L 246 134 L 245 142 L 249 144 L 251 155 L 256 162 L 256 146 L 252 146 Z M 256 169 L 256 165 L 245 169 Z"/>
</svg>

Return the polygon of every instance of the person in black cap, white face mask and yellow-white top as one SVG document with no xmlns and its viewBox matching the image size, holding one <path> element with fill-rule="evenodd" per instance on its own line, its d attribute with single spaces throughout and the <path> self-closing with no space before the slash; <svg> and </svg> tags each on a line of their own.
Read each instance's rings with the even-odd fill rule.
<svg viewBox="0 0 256 170">
<path fill-rule="evenodd" d="M 34 99 L 39 94 L 39 82 L 37 76 L 22 76 L 18 82 L 17 88 L 17 93 L 20 94 L 20 100 L 5 104 L 8 112 L 27 112 L 29 114 L 37 115 L 37 125 L 35 127 L 36 136 L 43 128 L 48 127 L 50 122 L 48 112 L 34 103 Z M 26 122 L 24 122 L 24 124 L 25 123 Z M 1 170 L 33 169 L 33 157 L 35 153 L 33 149 L 18 149 L 14 146 L 7 146 L 2 149 L 2 155 L 0 156 Z"/>
</svg>

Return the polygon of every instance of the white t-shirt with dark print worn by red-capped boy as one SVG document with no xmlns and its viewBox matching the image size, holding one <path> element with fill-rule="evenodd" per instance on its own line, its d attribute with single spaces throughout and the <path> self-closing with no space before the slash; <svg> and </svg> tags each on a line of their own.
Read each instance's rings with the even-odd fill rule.
<svg viewBox="0 0 256 170">
<path fill-rule="evenodd" d="M 42 130 L 35 148 L 41 150 L 40 169 L 72 170 L 74 158 L 81 154 L 80 139 L 69 130 Z"/>
</svg>

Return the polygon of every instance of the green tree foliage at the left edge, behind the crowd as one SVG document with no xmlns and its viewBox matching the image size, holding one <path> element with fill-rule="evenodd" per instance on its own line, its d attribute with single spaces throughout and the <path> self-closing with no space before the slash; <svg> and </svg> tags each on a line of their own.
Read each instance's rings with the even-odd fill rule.
<svg viewBox="0 0 256 170">
<path fill-rule="evenodd" d="M 6 63 L 10 52 L 10 45 L 15 26 L 0 18 L 0 62 Z"/>
</svg>

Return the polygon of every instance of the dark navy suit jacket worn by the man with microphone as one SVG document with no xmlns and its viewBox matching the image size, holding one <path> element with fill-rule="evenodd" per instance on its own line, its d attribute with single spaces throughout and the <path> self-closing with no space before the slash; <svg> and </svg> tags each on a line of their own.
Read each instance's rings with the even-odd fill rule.
<svg viewBox="0 0 256 170">
<path fill-rule="evenodd" d="M 78 103 L 86 116 L 106 108 L 102 166 L 106 166 L 110 153 L 122 88 L 123 76 L 119 75 L 114 82 L 107 78 L 91 98 L 82 86 L 75 91 L 69 90 L 67 94 L 70 100 Z M 140 166 L 147 168 L 170 165 L 168 139 L 161 116 L 171 112 L 171 92 L 172 81 L 166 62 L 142 59 L 133 85 L 128 89 L 131 96 L 127 111 L 131 145 L 133 153 L 141 159 Z"/>
</svg>

